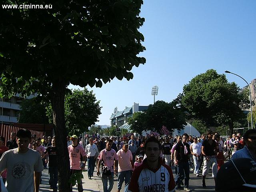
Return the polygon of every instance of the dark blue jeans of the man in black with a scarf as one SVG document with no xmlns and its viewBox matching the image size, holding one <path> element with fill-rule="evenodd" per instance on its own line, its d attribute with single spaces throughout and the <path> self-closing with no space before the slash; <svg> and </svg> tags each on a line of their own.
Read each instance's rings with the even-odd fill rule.
<svg viewBox="0 0 256 192">
<path fill-rule="evenodd" d="M 175 183 L 176 185 L 180 186 L 180 183 L 182 182 L 183 179 L 185 179 L 185 185 L 188 187 L 189 183 L 189 162 L 178 162 L 177 166 L 177 175 L 175 178 Z"/>
</svg>

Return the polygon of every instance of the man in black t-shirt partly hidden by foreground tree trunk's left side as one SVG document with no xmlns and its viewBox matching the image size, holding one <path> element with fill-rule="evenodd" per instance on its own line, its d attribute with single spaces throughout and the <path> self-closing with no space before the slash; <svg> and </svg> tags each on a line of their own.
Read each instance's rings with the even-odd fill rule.
<svg viewBox="0 0 256 192">
<path fill-rule="evenodd" d="M 48 153 L 48 174 L 49 174 L 49 184 L 50 189 L 53 189 L 54 192 L 57 192 L 57 183 L 58 183 L 58 162 L 56 155 L 56 146 L 55 138 L 52 139 L 52 146 L 48 146 L 45 152 L 42 154 L 42 158 Z"/>
</svg>

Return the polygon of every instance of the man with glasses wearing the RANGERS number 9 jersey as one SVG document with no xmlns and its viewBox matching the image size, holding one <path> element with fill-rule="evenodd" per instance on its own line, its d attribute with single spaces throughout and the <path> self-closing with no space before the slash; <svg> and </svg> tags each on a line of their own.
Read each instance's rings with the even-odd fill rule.
<svg viewBox="0 0 256 192">
<path fill-rule="evenodd" d="M 151 136 L 145 143 L 147 158 L 132 173 L 128 192 L 174 192 L 175 182 L 170 166 L 163 163 L 160 142 Z"/>
</svg>

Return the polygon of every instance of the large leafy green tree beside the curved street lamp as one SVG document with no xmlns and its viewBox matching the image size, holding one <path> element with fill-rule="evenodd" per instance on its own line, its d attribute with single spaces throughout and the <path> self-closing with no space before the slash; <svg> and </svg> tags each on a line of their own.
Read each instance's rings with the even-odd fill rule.
<svg viewBox="0 0 256 192">
<path fill-rule="evenodd" d="M 213 69 L 184 85 L 181 102 L 190 118 L 202 120 L 207 126 L 228 124 L 230 134 L 233 122 L 244 118 L 242 109 L 248 108 L 250 103 L 234 82 L 229 83 L 224 74 Z"/>
</svg>

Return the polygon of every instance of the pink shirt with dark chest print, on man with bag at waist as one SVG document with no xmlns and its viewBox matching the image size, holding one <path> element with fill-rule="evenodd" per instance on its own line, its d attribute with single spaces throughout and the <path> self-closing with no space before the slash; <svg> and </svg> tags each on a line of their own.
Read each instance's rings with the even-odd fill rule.
<svg viewBox="0 0 256 192">
<path fill-rule="evenodd" d="M 111 149 L 110 151 L 104 149 L 100 152 L 98 160 L 103 160 L 104 166 L 110 167 L 110 171 L 114 172 L 114 160 L 118 160 L 118 156 L 116 155 L 116 151 L 114 149 Z"/>
</svg>

